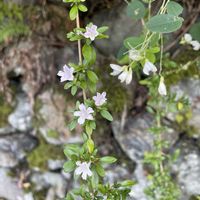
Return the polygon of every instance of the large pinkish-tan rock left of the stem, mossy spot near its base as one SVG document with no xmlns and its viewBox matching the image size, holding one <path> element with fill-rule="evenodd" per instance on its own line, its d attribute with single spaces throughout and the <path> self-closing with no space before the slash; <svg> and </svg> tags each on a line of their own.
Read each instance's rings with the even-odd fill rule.
<svg viewBox="0 0 200 200">
<path fill-rule="evenodd" d="M 62 94 L 53 93 L 52 90 L 42 93 L 39 100 L 42 104 L 39 114 L 44 120 L 39 131 L 46 141 L 55 145 L 80 142 L 80 137 L 77 134 L 71 136 L 67 128 L 71 117 L 66 117 L 66 111 L 73 105 L 70 102 L 67 104 Z M 80 129 L 76 129 L 76 133 L 80 133 Z"/>
</svg>

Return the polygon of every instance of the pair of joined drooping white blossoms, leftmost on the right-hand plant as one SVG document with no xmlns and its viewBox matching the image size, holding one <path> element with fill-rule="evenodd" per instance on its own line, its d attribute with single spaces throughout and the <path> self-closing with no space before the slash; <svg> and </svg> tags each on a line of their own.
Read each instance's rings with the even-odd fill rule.
<svg viewBox="0 0 200 200">
<path fill-rule="evenodd" d="M 122 82 L 126 82 L 126 84 L 129 84 L 132 81 L 133 73 L 132 69 L 129 66 L 119 66 L 115 64 L 110 64 L 110 67 L 113 69 L 113 72 L 111 73 L 112 76 L 119 75 L 118 79 Z"/>
</svg>

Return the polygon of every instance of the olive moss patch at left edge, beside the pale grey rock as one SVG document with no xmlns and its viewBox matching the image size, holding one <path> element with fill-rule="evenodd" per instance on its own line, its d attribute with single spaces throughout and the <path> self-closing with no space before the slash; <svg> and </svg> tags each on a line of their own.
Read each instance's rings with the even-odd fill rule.
<svg viewBox="0 0 200 200">
<path fill-rule="evenodd" d="M 12 106 L 6 102 L 3 94 L 0 94 L 0 127 L 4 127 L 8 124 L 8 115 L 12 110 Z"/>
</svg>

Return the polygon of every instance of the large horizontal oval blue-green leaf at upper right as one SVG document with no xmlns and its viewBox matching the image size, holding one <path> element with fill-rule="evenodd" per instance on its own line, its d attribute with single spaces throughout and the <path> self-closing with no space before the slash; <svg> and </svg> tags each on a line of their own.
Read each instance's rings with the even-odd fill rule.
<svg viewBox="0 0 200 200">
<path fill-rule="evenodd" d="M 182 26 L 183 19 L 170 14 L 161 14 L 152 17 L 146 24 L 152 32 L 170 33 L 178 30 Z"/>
</svg>

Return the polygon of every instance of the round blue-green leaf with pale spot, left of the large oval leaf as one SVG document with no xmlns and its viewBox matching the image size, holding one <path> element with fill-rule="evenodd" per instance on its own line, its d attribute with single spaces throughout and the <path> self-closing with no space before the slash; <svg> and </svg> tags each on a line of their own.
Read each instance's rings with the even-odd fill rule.
<svg viewBox="0 0 200 200">
<path fill-rule="evenodd" d="M 139 0 L 132 0 L 127 7 L 127 15 L 133 19 L 141 19 L 145 16 L 145 7 Z"/>
</svg>

